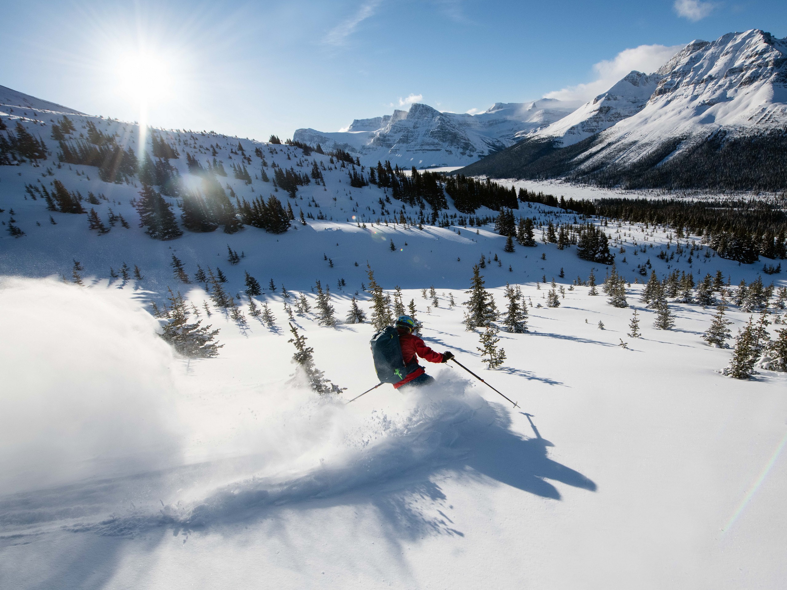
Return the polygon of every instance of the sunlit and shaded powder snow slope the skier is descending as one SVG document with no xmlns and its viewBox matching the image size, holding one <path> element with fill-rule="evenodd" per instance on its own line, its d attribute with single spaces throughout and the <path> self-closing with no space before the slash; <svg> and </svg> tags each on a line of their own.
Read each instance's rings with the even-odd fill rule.
<svg viewBox="0 0 787 590">
<path fill-rule="evenodd" d="M 54 153 L 53 120 L 28 113 L 9 127 L 20 121 Z M 131 124 L 72 120 L 76 135 L 91 120 L 139 153 Z M 607 269 L 578 259 L 574 246 L 539 242 L 504 253 L 505 239 L 491 227 L 371 223 L 390 219 L 401 203 L 387 203 L 376 186 L 350 188 L 347 169 L 328 157 L 195 131 L 157 133 L 179 150 L 170 161 L 187 183 L 194 178 L 186 151 L 206 164 L 215 149 L 230 170 L 242 161 L 239 142 L 254 179 L 246 185 L 230 171 L 221 178 L 227 192 L 276 194 L 296 215 L 324 219 L 279 235 L 246 227 L 159 242 L 137 225 L 133 183 L 103 183 L 96 168 L 57 168 L 52 158 L 0 166 L 0 219 L 25 232 L 0 234 L 0 309 L 13 310 L 0 313 L 3 587 L 779 587 L 787 574 L 779 510 L 785 374 L 722 377 L 716 371 L 730 351 L 700 339 L 713 310 L 672 302 L 676 329 L 655 330 L 637 283 L 646 260 L 660 276 L 718 269 L 733 284 L 751 281 L 762 263 L 722 260 L 697 238 L 681 241 L 696 247 L 691 263 L 685 253 L 660 260 L 662 250 L 675 253 L 669 232 L 610 223 L 604 230 L 641 316 L 643 337 L 633 339 L 632 308 L 613 308 L 575 284 L 592 268 L 599 279 Z M 274 161 L 297 171 L 324 164 L 325 186 L 301 186 L 294 199 L 276 192 L 258 178 L 255 147 L 268 174 Z M 85 206 L 107 224 L 112 208 L 130 227 L 99 235 L 86 216 L 49 212 L 25 190 L 54 179 L 85 197 L 103 195 Z M 417 207 L 404 212 L 419 215 Z M 521 205 L 515 215 L 574 218 L 541 205 Z M 242 253 L 237 265 L 227 247 Z M 249 316 L 245 296 L 246 326 L 215 308 L 205 317 L 207 294 L 173 276 L 173 254 L 192 280 L 198 264 L 220 267 L 233 294 L 246 272 L 264 287 L 272 280 L 275 291 L 257 301 L 269 305 L 275 325 Z M 483 368 L 478 334 L 461 324 L 482 254 L 498 308 L 510 282 L 530 310 L 530 333 L 501 332 L 507 360 L 497 371 Z M 74 260 L 85 268 L 83 287 L 56 280 L 71 277 Z M 313 312 L 290 320 L 284 306 L 293 299 L 282 289 L 313 305 L 320 280 L 338 318 L 356 293 L 368 312 L 367 261 L 386 292 L 398 285 L 412 299 L 427 345 L 453 350 L 520 407 L 453 364 L 427 367 L 438 378 L 433 389 L 385 386 L 343 404 L 376 382 L 373 329 L 321 327 Z M 111 278 L 110 267 L 124 263 L 143 278 Z M 541 281 L 553 277 L 564 297 L 545 308 L 549 284 Z M 783 274 L 770 278 L 787 285 Z M 218 358 L 179 360 L 155 335 L 148 302 L 161 301 L 168 286 L 220 328 Z M 430 286 L 438 307 L 423 297 Z M 730 318 L 737 327 L 748 314 L 732 306 Z M 342 400 L 290 382 L 289 322 L 309 338 L 317 367 L 347 388 Z"/>
</svg>

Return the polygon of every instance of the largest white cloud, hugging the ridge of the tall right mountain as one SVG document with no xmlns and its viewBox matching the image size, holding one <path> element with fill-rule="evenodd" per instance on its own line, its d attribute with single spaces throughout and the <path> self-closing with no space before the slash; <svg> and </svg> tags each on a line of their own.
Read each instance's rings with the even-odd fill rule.
<svg viewBox="0 0 787 590">
<path fill-rule="evenodd" d="M 554 90 L 545 94 L 544 98 L 558 98 L 561 101 L 589 101 L 591 98 L 595 98 L 602 92 L 609 90 L 631 70 L 648 74 L 656 72 L 682 48 L 682 45 L 671 47 L 641 45 L 633 49 L 623 50 L 615 56 L 615 59 L 599 61 L 593 65 L 593 70 L 596 72 L 596 79 L 593 82 L 565 87 L 562 90 Z"/>
</svg>

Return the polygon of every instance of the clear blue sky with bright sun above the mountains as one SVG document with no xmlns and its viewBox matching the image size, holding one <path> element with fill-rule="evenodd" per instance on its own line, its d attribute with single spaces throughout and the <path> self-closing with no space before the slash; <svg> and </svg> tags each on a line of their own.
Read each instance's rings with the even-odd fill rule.
<svg viewBox="0 0 787 590">
<path fill-rule="evenodd" d="M 676 46 L 762 28 L 787 2 L 7 2 L 0 84 L 161 127 L 291 137 L 422 101 L 467 112 L 588 98 Z M 138 91 L 144 89 L 144 92 Z"/>
</svg>

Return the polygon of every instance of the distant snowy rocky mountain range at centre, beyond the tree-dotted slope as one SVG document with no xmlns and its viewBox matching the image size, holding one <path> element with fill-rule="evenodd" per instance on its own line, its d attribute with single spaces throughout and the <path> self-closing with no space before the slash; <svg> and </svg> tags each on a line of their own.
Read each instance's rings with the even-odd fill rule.
<svg viewBox="0 0 787 590">
<path fill-rule="evenodd" d="M 293 138 L 323 149 L 345 149 L 367 165 L 390 160 L 402 168 L 470 164 L 518 141 L 519 134 L 544 127 L 576 109 L 578 103 L 542 98 L 524 103 L 496 102 L 475 115 L 439 112 L 414 104 L 409 111 L 354 120 L 347 131 L 297 129 Z"/>
</svg>

